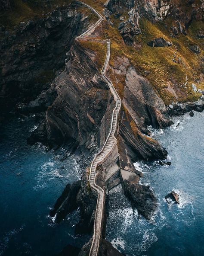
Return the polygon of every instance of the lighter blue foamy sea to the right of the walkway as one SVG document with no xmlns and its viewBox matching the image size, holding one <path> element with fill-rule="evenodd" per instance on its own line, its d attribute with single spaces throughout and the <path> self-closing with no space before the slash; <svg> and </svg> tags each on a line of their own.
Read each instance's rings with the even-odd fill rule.
<svg viewBox="0 0 204 256">
<path fill-rule="evenodd" d="M 174 118 L 152 136 L 167 148 L 170 166 L 140 161 L 142 184 L 150 185 L 158 198 L 151 222 L 138 216 L 121 186 L 109 193 L 107 239 L 127 256 L 204 255 L 204 113 Z M 170 191 L 179 193 L 180 204 L 167 204 Z"/>
</svg>

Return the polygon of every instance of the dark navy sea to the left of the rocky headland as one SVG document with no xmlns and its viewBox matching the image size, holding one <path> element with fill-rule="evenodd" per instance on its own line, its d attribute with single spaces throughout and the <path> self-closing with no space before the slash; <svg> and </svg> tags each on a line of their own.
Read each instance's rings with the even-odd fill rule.
<svg viewBox="0 0 204 256">
<path fill-rule="evenodd" d="M 59 160 L 63 149 L 56 155 L 42 144 L 28 146 L 35 128 L 34 115 L 9 118 L 0 128 L 0 256 L 52 256 L 89 239 L 74 235 L 79 210 L 60 224 L 49 217 L 66 184 L 80 179 L 79 168 L 71 157 Z"/>
</svg>

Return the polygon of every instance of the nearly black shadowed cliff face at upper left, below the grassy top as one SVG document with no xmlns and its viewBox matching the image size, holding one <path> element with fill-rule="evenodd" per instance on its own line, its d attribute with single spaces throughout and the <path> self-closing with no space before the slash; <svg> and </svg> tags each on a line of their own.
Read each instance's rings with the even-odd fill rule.
<svg viewBox="0 0 204 256">
<path fill-rule="evenodd" d="M 50 86 L 65 64 L 74 38 L 89 24 L 88 16 L 59 7 L 46 18 L 21 22 L 0 39 L 0 106 L 9 112 L 16 103 L 28 103 Z M 47 106 L 46 106 L 47 107 Z M 27 111 L 28 109 L 25 109 Z"/>
</svg>

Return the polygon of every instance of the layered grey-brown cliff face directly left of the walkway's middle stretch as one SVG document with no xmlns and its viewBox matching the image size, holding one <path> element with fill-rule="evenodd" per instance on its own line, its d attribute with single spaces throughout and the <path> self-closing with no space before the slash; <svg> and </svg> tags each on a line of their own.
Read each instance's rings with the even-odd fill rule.
<svg viewBox="0 0 204 256">
<path fill-rule="evenodd" d="M 90 57 L 94 58 L 94 53 L 84 51 L 75 41 L 68 53 L 65 70 L 52 85 L 58 96 L 46 112 L 51 144 L 68 142 L 73 147 L 85 145 L 90 149 L 97 143 L 100 147 L 102 136 L 98 140 L 97 134 L 112 96 Z M 111 116 L 111 109 L 108 113 Z"/>
</svg>

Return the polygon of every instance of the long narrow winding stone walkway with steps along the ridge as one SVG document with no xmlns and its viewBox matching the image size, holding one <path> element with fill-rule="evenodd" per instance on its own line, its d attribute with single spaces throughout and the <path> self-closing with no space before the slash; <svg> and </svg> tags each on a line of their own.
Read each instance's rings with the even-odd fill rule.
<svg viewBox="0 0 204 256">
<path fill-rule="evenodd" d="M 89 38 L 87 38 L 87 36 L 90 35 L 96 29 L 96 27 L 99 26 L 99 24 L 101 24 L 101 22 L 105 18 L 99 12 L 97 12 L 93 7 L 81 1 L 77 1 L 77 2 L 88 7 L 90 10 L 92 10 L 94 13 L 96 13 L 99 16 L 99 20 L 95 24 L 90 26 L 90 28 L 86 32 L 84 32 L 82 35 L 77 37 L 77 39 L 90 40 Z M 104 42 L 104 40 L 99 40 L 99 39 L 94 39 L 94 40 L 98 42 Z M 117 128 L 117 116 L 121 109 L 121 99 L 118 96 L 112 82 L 108 80 L 108 78 L 105 76 L 105 73 L 110 61 L 110 56 L 111 56 L 111 40 L 107 40 L 106 44 L 107 44 L 107 53 L 106 53 L 104 66 L 101 71 L 101 77 L 105 80 L 106 83 L 108 83 L 108 86 L 111 90 L 112 95 L 114 96 L 114 100 L 116 104 L 112 113 L 111 127 L 110 127 L 110 132 L 108 134 L 108 137 L 105 141 L 105 144 L 102 147 L 102 150 L 98 154 L 96 154 L 96 156 L 94 157 L 90 167 L 90 176 L 89 176 L 90 186 L 93 192 L 96 192 L 98 194 L 98 199 L 97 199 L 96 214 L 95 214 L 95 221 L 94 221 L 94 227 L 93 227 L 93 241 L 92 241 L 89 256 L 97 256 L 99 253 L 99 245 L 100 245 L 101 233 L 102 233 L 102 218 L 104 216 L 104 211 L 105 211 L 105 191 L 96 184 L 96 168 L 112 153 L 112 150 L 114 149 L 115 144 L 117 144 L 117 140 L 114 137 L 114 134 Z"/>
</svg>

